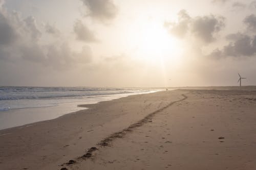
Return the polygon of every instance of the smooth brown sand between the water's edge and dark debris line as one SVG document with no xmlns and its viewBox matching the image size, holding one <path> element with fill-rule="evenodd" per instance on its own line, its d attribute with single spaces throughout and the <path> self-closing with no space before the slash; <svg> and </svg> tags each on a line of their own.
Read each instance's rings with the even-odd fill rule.
<svg viewBox="0 0 256 170">
<path fill-rule="evenodd" d="M 20 169 L 22 165 L 29 165 L 32 161 L 34 163 L 30 168 L 35 169 L 47 166 L 50 161 L 51 166 L 56 168 L 67 160 L 82 155 L 83 150 L 91 148 L 105 136 L 128 127 L 144 117 L 148 111 L 155 110 L 158 105 L 164 104 L 165 102 L 158 101 L 164 93 L 165 91 L 130 95 L 92 104 L 90 109 L 34 123 L 22 129 L 2 130 L 2 134 L 8 135 L 0 136 L 0 150 L 2 150 L 0 167 L 9 169 L 9 166 L 13 166 L 12 169 Z M 179 96 L 179 93 L 174 95 L 174 99 Z M 158 98 L 151 97 L 156 95 Z M 53 154 L 49 155 L 49 152 Z M 24 154 L 28 159 L 24 159 Z M 41 156 L 46 155 L 48 157 L 42 160 Z M 14 161 L 17 164 L 11 163 Z"/>
</svg>

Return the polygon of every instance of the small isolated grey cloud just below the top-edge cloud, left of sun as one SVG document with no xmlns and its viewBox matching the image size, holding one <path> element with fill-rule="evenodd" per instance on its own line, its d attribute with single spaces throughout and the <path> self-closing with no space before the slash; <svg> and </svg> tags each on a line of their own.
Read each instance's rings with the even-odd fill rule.
<svg viewBox="0 0 256 170">
<path fill-rule="evenodd" d="M 81 20 L 77 20 L 75 22 L 74 32 L 76 33 L 76 37 L 78 40 L 86 41 L 86 42 L 97 41 L 93 32 L 91 30 L 89 30 L 89 28 L 87 28 L 87 26 L 83 25 Z"/>
</svg>

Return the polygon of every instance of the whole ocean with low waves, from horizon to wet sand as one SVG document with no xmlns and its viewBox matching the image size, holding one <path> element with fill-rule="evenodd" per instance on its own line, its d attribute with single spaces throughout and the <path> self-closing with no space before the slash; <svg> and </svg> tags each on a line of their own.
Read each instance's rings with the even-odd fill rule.
<svg viewBox="0 0 256 170">
<path fill-rule="evenodd" d="M 136 88 L 0 86 L 0 130 L 57 118 L 128 95 L 158 91 Z"/>
</svg>

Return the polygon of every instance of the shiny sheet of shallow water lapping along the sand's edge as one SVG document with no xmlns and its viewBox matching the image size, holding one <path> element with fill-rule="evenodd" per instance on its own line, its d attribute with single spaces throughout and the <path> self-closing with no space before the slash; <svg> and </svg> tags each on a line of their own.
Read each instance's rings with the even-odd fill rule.
<svg viewBox="0 0 256 170">
<path fill-rule="evenodd" d="M 66 114 L 73 114 L 80 110 L 87 109 L 83 105 L 97 104 L 99 102 L 111 101 L 120 99 L 129 95 L 152 93 L 159 90 L 151 90 L 146 92 L 134 92 L 134 93 L 120 93 L 120 94 L 107 94 L 107 95 L 95 95 L 93 101 L 82 101 L 59 103 L 55 106 L 47 107 L 34 107 L 34 108 L 18 108 L 8 111 L 2 111 L 0 122 L 0 134 L 1 130 L 23 127 L 37 122 L 43 122 L 51 119 L 61 117 Z M 91 98 L 90 98 L 91 99 Z M 84 104 L 87 103 L 87 104 Z M 16 115 L 16 117 L 15 117 Z"/>
</svg>

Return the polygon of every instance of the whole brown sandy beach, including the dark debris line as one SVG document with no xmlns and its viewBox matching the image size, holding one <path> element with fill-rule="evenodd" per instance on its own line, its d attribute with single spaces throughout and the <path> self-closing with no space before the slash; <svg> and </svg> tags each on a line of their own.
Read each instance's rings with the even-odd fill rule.
<svg viewBox="0 0 256 170">
<path fill-rule="evenodd" d="M 0 169 L 256 169 L 256 91 L 161 91 L 87 107 L 0 131 Z"/>
</svg>

